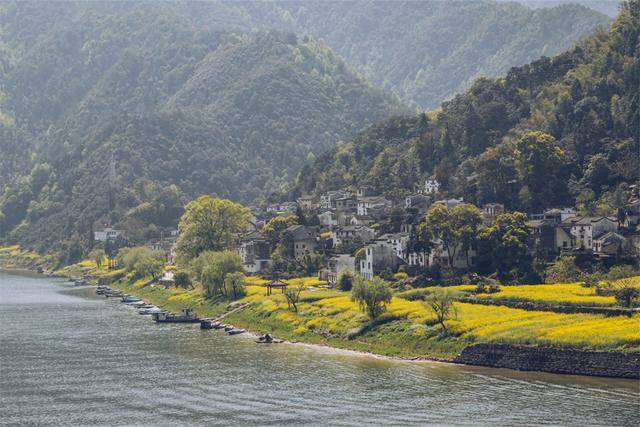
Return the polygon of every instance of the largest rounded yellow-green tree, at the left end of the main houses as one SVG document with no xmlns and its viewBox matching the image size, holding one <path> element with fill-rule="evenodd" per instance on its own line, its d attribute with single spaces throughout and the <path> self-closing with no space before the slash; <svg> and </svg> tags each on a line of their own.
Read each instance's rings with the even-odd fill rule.
<svg viewBox="0 0 640 427">
<path fill-rule="evenodd" d="M 188 262 L 204 251 L 229 247 L 234 235 L 246 229 L 249 209 L 226 199 L 200 196 L 187 204 L 180 218 L 176 252 Z"/>
</svg>

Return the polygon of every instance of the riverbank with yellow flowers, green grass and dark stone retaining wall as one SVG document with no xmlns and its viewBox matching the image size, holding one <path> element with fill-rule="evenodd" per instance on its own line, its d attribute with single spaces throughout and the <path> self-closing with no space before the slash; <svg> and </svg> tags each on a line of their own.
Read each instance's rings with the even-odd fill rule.
<svg viewBox="0 0 640 427">
<path fill-rule="evenodd" d="M 559 314 L 457 303 L 458 319 L 450 322 L 450 333 L 443 337 L 420 301 L 394 297 L 388 312 L 372 324 L 348 293 L 311 286 L 293 312 L 284 296 L 267 295 L 260 279 L 250 278 L 249 283 L 240 300 L 248 307 L 224 322 L 290 343 L 398 360 L 621 378 L 638 378 L 640 373 L 638 315 Z M 206 299 L 198 289 L 167 289 L 148 279 L 125 277 L 111 286 L 170 311 L 191 307 L 203 317 L 216 317 L 229 304 Z"/>
</svg>

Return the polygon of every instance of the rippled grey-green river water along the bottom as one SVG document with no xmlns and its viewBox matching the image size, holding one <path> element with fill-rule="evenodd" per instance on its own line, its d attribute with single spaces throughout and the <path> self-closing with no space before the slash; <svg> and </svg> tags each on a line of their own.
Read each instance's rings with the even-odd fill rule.
<svg viewBox="0 0 640 427">
<path fill-rule="evenodd" d="M 2 425 L 638 425 L 636 381 L 411 363 L 156 325 L 0 273 Z"/>
</svg>

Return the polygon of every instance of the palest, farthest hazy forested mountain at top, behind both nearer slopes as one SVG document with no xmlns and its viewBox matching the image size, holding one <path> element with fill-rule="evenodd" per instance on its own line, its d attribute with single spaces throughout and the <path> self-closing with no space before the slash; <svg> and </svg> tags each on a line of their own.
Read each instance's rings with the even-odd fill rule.
<svg viewBox="0 0 640 427">
<path fill-rule="evenodd" d="M 291 29 L 322 37 L 375 85 L 431 109 L 478 76 L 500 76 L 590 35 L 607 18 L 577 5 L 489 1 L 277 3 Z"/>
</svg>

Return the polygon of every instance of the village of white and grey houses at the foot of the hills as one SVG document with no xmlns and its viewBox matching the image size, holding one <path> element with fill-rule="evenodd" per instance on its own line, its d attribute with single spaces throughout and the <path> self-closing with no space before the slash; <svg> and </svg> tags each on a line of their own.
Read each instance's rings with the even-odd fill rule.
<svg viewBox="0 0 640 427">
<path fill-rule="evenodd" d="M 229 249 L 239 254 L 247 274 L 270 279 L 317 274 L 330 286 L 343 275 L 370 280 L 374 276 L 389 279 L 398 272 L 415 277 L 434 267 L 486 271 L 486 267 L 478 269 L 482 260 L 478 259 L 475 239 L 454 241 L 452 247 L 451 242 L 447 245 L 438 238 L 438 230 L 427 230 L 430 244 L 420 241 L 430 209 L 442 206 L 451 211 L 465 203 L 463 199 L 441 198 L 439 187 L 435 179 L 427 179 L 415 193 L 396 200 L 377 194 L 371 187 L 360 187 L 253 207 L 246 231 L 236 236 Z M 479 227 L 508 213 L 499 203 L 486 203 L 478 212 Z M 531 257 L 541 257 L 546 263 L 573 256 L 610 267 L 633 257 L 639 219 L 638 201 L 617 216 L 583 216 L 572 207 L 549 209 L 526 216 L 524 243 Z M 274 223 L 281 229 L 274 232 Z M 166 263 L 173 264 L 178 235 L 177 229 L 168 229 L 145 246 L 164 252 Z M 101 244 L 126 240 L 123 230 L 113 228 L 96 231 L 94 237 Z M 283 263 L 282 258 L 293 262 Z"/>
</svg>

